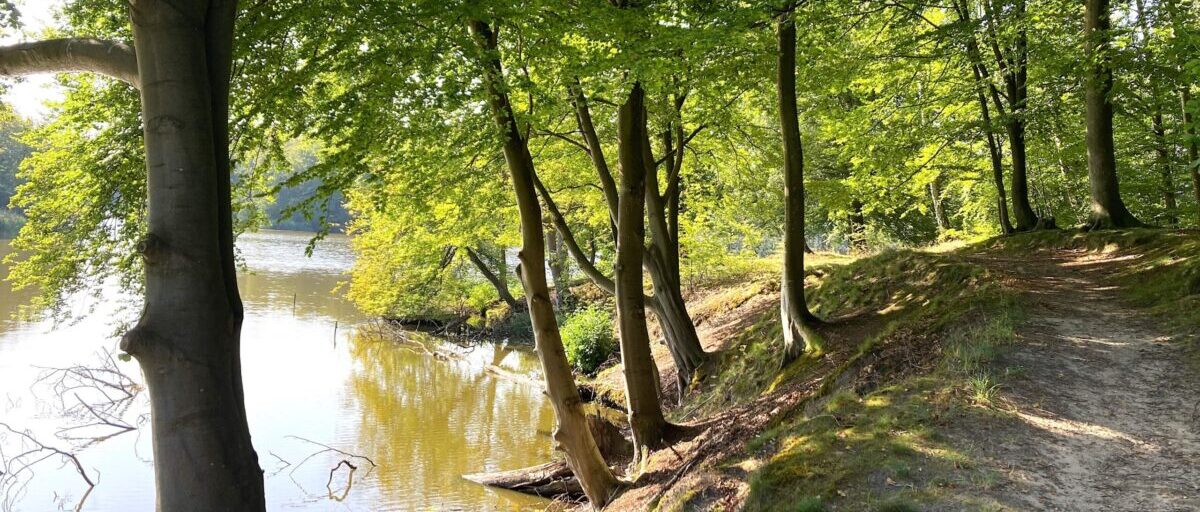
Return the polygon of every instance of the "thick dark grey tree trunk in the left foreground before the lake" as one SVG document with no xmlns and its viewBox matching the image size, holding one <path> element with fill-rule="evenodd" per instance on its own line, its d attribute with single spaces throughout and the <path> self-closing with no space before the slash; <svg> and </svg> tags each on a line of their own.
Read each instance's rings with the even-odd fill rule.
<svg viewBox="0 0 1200 512">
<path fill-rule="evenodd" d="M 264 510 L 241 381 L 228 94 L 232 0 L 132 2 L 146 149 L 145 309 L 121 339 L 150 392 L 158 510 Z"/>
</svg>

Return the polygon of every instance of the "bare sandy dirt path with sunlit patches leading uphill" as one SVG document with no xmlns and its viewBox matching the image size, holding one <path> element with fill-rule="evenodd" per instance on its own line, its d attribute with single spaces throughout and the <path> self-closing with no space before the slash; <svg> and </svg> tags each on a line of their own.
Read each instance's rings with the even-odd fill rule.
<svg viewBox="0 0 1200 512">
<path fill-rule="evenodd" d="M 1030 261 L 1034 261 L 1031 264 Z M 1178 344 L 1103 283 L 1117 259 L 977 260 L 1031 303 L 1001 390 L 1020 421 L 983 442 L 1018 510 L 1200 510 L 1200 378 Z"/>
</svg>

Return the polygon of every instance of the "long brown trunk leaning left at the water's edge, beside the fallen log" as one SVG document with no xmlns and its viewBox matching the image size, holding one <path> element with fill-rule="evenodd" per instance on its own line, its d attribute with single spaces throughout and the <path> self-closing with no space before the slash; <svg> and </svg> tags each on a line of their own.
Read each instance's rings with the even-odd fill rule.
<svg viewBox="0 0 1200 512">
<path fill-rule="evenodd" d="M 617 477 L 605 463 L 595 438 L 583 415 L 580 399 L 566 362 L 563 338 L 550 302 L 546 283 L 546 241 L 541 224 L 541 206 L 535 191 L 535 173 L 529 146 L 517 126 L 504 84 L 504 71 L 497 54 L 497 36 L 481 20 L 468 22 L 472 36 L 481 53 L 481 67 L 488 91 L 488 106 L 496 124 L 504 133 L 504 159 L 509 167 L 512 188 L 521 213 L 521 283 L 524 285 L 529 320 L 533 324 L 534 344 L 546 378 L 546 393 L 554 408 L 558 426 L 554 441 L 566 453 L 566 463 L 580 480 L 592 506 L 600 508 L 608 504 L 618 488 Z"/>
</svg>

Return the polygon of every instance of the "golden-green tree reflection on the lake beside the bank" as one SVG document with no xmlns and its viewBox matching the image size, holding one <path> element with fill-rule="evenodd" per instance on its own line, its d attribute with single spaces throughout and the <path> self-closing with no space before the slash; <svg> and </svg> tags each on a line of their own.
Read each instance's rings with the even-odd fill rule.
<svg viewBox="0 0 1200 512">
<path fill-rule="evenodd" d="M 380 463 L 388 501 L 480 506 L 494 493 L 460 475 L 522 468 L 551 457 L 552 411 L 540 390 L 484 371 L 511 350 L 484 345 L 464 361 L 440 361 L 386 339 L 355 336 L 358 368 L 349 386 L 359 399 L 359 446 Z M 436 489 L 430 492 L 427 489 Z M 512 499 L 518 499 L 512 496 Z M 506 502 L 506 501 L 505 501 Z"/>
</svg>

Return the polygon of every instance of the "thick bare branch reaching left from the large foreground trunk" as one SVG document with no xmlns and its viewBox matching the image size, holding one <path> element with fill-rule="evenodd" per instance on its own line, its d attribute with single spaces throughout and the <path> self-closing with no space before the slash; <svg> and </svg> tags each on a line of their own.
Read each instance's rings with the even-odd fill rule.
<svg viewBox="0 0 1200 512">
<path fill-rule="evenodd" d="M 140 88 L 133 48 L 115 41 L 62 38 L 0 47 L 0 76 L 94 72 Z"/>
</svg>

